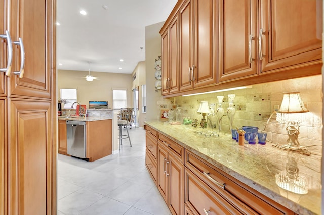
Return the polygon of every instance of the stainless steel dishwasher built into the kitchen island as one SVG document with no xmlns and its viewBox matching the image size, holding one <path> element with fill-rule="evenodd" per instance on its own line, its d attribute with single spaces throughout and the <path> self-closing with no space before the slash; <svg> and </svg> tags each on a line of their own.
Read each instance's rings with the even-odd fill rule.
<svg viewBox="0 0 324 215">
<path fill-rule="evenodd" d="M 69 155 L 86 158 L 86 122 L 67 120 L 66 141 Z"/>
</svg>

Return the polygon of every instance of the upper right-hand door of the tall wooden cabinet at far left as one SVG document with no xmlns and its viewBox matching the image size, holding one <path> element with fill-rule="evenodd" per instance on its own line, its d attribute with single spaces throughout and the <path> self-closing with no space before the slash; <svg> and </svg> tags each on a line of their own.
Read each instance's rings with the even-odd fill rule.
<svg viewBox="0 0 324 215">
<path fill-rule="evenodd" d="M 18 45 L 13 46 L 13 67 L 8 79 L 8 97 L 50 98 L 50 71 L 53 32 L 51 17 L 52 1 L 12 0 L 10 1 L 10 33 L 13 41 L 22 38 L 25 48 L 25 68 L 23 78 L 14 75 L 20 71 L 21 52 Z"/>
</svg>

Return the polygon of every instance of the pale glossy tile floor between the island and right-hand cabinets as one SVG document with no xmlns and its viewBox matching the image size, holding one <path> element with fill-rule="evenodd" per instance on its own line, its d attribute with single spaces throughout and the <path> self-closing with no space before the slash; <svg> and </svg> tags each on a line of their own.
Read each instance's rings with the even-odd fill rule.
<svg viewBox="0 0 324 215">
<path fill-rule="evenodd" d="M 123 128 L 125 130 L 125 128 Z M 58 214 L 171 214 L 145 167 L 145 130 L 95 162 L 58 154 Z M 126 133 L 126 131 L 123 131 Z"/>
</svg>

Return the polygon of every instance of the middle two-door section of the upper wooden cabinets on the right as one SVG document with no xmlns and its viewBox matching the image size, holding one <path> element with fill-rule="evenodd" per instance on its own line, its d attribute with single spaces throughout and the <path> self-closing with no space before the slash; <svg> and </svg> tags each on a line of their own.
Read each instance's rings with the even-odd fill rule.
<svg viewBox="0 0 324 215">
<path fill-rule="evenodd" d="M 187 0 L 179 10 L 180 91 L 216 84 L 216 6 Z"/>
</svg>

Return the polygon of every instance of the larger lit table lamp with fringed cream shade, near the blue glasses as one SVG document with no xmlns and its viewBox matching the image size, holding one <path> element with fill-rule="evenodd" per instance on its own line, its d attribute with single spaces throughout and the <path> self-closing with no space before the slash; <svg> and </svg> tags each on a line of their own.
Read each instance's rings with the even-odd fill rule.
<svg viewBox="0 0 324 215">
<path fill-rule="evenodd" d="M 298 141 L 299 123 L 305 120 L 306 114 L 309 112 L 304 106 L 300 97 L 300 92 L 287 92 L 284 93 L 279 111 L 277 111 L 277 121 L 280 123 L 288 123 L 286 131 L 288 134 L 287 142 L 285 145 L 276 145 L 281 149 L 300 152 L 306 150 L 304 146 L 300 146 Z"/>
</svg>

